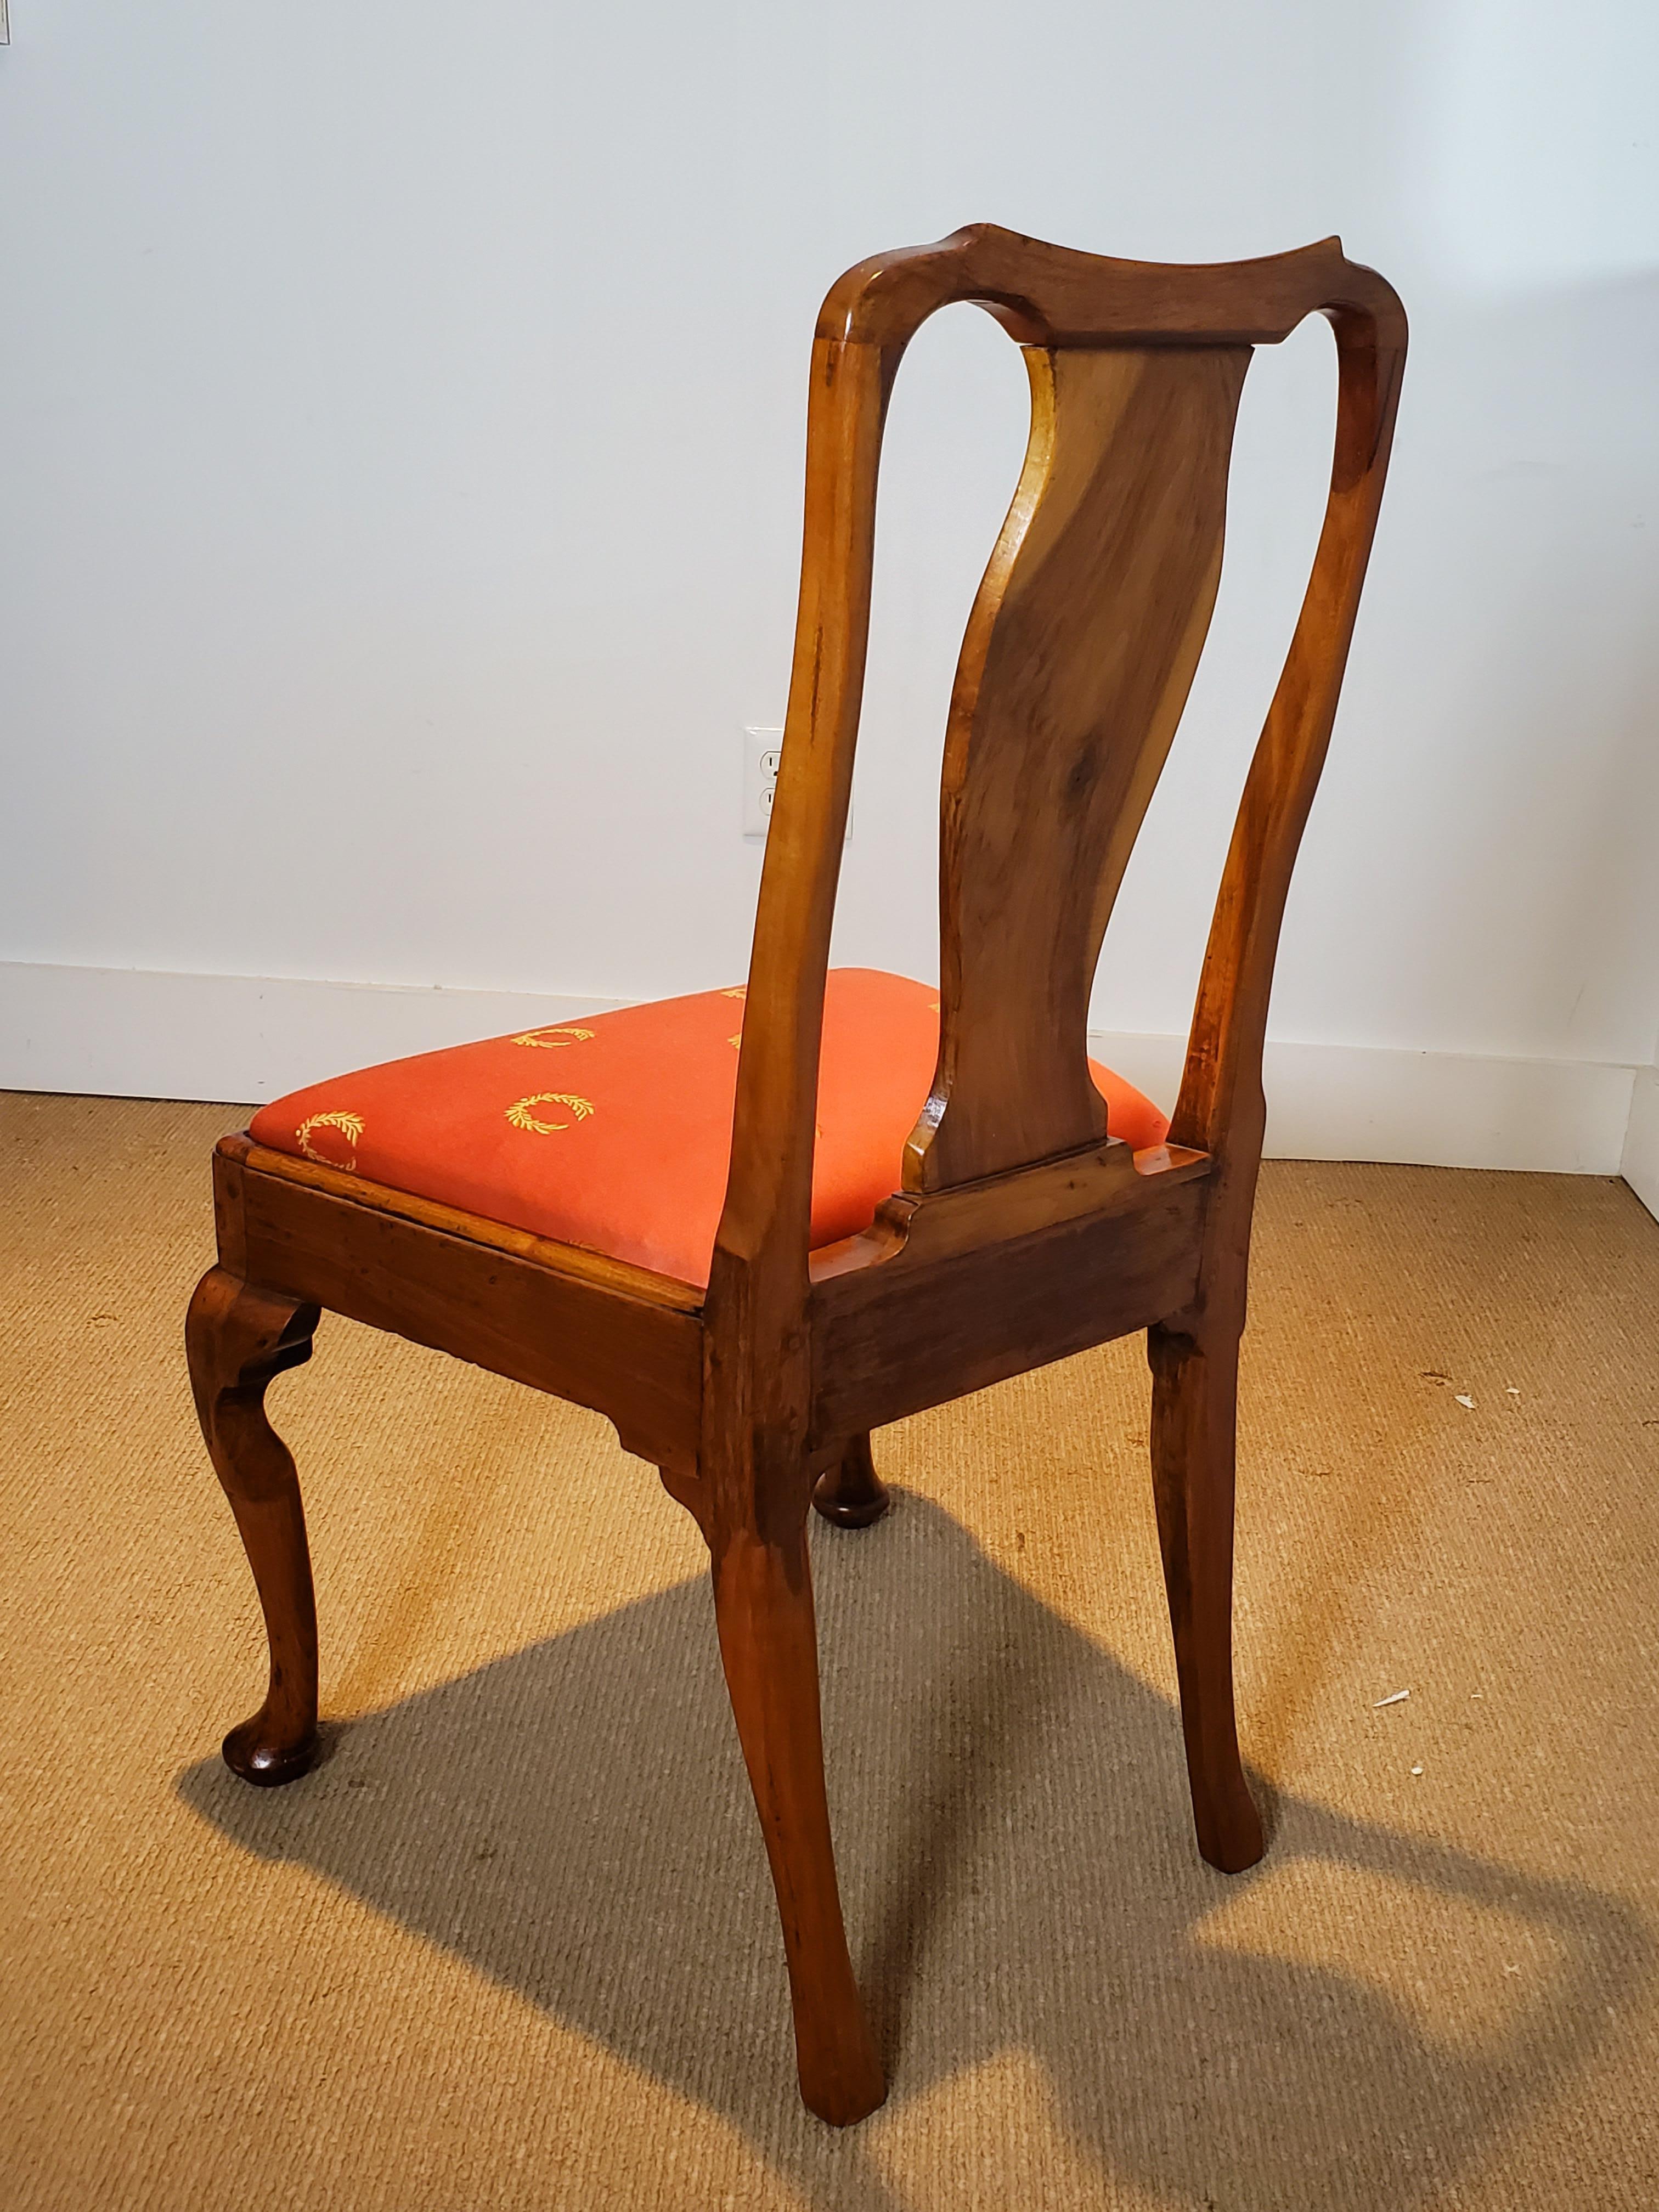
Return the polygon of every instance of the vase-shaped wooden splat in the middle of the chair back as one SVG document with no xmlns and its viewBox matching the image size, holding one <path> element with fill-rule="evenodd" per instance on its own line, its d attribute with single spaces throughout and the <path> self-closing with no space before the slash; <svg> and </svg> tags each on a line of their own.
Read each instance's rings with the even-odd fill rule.
<svg viewBox="0 0 1659 2212">
<path fill-rule="evenodd" d="M 1106 1133 L 1088 993 L 1199 666 L 1250 349 L 1026 349 L 1031 447 L 945 737 L 938 1190 Z"/>
</svg>

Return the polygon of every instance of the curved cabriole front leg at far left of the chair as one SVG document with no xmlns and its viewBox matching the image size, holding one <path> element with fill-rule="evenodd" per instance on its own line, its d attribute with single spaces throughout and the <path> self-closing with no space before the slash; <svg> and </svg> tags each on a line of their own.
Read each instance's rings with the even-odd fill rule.
<svg viewBox="0 0 1659 2212">
<path fill-rule="evenodd" d="M 250 1783 L 292 1783 L 316 1759 L 316 1597 L 294 1460 L 265 1420 L 265 1387 L 312 1356 L 319 1310 L 210 1267 L 184 1325 L 190 1387 L 215 1473 L 254 1573 L 270 1688 L 223 1759 Z"/>
</svg>

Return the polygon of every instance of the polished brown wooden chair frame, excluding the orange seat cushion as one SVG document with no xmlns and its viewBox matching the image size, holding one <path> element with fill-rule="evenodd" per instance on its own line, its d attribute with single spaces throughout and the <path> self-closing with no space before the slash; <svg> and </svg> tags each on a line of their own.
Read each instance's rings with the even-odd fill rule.
<svg viewBox="0 0 1659 2212">
<path fill-rule="evenodd" d="M 1020 343 L 1031 445 L 951 699 L 931 1097 L 902 1188 L 858 1234 L 814 1250 L 821 1015 L 883 416 L 905 345 L 951 301 L 978 301 Z M 1170 1141 L 1135 1152 L 1106 1137 L 1088 1075 L 1091 980 L 1210 622 L 1243 374 L 1254 345 L 1310 312 L 1334 325 L 1338 358 L 1325 526 L 1228 852 Z M 319 1307 L 595 1407 L 708 1540 L 801 2090 L 827 2121 L 865 2117 L 885 2084 L 836 1891 L 805 1531 L 812 1502 L 852 1526 L 883 1511 L 872 1429 L 1146 1329 L 1199 1849 L 1230 1871 L 1263 1849 L 1230 1641 L 1261 1048 L 1402 363 L 1396 294 L 1338 239 L 1181 268 L 975 226 L 849 270 L 812 356 L 794 675 L 708 1285 L 246 1135 L 215 1157 L 219 1265 L 190 1305 L 190 1376 L 270 1632 L 265 1703 L 230 1732 L 226 1761 L 281 1783 L 316 1750 L 305 1522 L 263 1391 L 310 1356 Z"/>
</svg>

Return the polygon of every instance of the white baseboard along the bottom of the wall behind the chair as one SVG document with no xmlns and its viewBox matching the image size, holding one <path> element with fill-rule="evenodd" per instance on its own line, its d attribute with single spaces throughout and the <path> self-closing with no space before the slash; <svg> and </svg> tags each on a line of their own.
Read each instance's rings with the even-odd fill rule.
<svg viewBox="0 0 1659 2212">
<path fill-rule="evenodd" d="M 591 993 L 0 962 L 0 1084 L 261 1104 L 332 1068 L 568 1022 L 613 1004 Z M 1088 1042 L 1097 1060 L 1150 1097 L 1175 1099 L 1179 1037 L 1095 1033 Z M 1659 1073 L 1593 1060 L 1270 1042 L 1267 1152 L 1624 1172 L 1659 1212 Z"/>
</svg>

